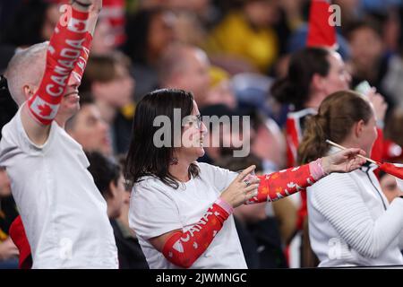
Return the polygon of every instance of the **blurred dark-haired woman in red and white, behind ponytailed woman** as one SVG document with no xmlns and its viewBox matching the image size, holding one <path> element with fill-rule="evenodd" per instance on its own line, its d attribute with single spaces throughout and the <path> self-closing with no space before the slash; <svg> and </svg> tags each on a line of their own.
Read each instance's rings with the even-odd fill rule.
<svg viewBox="0 0 403 287">
<path fill-rule="evenodd" d="M 287 166 L 296 165 L 296 150 L 304 133 L 306 116 L 316 111 L 330 93 L 347 90 L 351 81 L 339 53 L 327 48 L 304 48 L 292 55 L 287 77 L 279 79 L 271 94 L 291 104 L 287 115 Z"/>
</svg>

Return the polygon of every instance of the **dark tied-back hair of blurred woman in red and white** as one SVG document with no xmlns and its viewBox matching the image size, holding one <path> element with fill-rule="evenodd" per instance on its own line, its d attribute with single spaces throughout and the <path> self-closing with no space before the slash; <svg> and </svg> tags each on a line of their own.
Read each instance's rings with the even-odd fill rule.
<svg viewBox="0 0 403 287">
<path fill-rule="evenodd" d="M 326 76 L 330 71 L 327 48 L 303 48 L 291 56 L 287 76 L 277 80 L 271 87 L 271 95 L 280 103 L 293 104 L 304 109 L 309 100 L 314 74 Z"/>
</svg>

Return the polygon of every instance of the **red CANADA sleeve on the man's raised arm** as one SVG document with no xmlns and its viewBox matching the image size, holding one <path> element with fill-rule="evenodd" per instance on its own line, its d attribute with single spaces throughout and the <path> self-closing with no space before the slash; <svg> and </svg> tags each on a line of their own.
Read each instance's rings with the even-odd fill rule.
<svg viewBox="0 0 403 287">
<path fill-rule="evenodd" d="M 49 125 L 56 117 L 77 59 L 81 57 L 86 41 L 89 13 L 75 10 L 67 25 L 57 23 L 47 48 L 45 74 L 38 91 L 28 100 L 32 116 L 43 125 Z"/>
</svg>

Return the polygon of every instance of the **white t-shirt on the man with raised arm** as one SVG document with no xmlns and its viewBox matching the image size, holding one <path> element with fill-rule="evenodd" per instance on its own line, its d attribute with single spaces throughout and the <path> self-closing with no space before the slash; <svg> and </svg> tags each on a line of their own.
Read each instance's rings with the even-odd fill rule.
<svg viewBox="0 0 403 287">
<path fill-rule="evenodd" d="M 117 268 L 117 249 L 81 145 L 54 121 L 47 142 L 30 142 L 21 109 L 3 128 L 0 166 L 7 169 L 33 268 Z"/>
</svg>

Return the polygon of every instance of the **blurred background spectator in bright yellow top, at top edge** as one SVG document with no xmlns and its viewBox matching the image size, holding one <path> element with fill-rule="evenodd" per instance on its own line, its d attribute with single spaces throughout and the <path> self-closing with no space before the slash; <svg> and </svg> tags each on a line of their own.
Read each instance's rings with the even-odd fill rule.
<svg viewBox="0 0 403 287">
<path fill-rule="evenodd" d="M 239 11 L 228 13 L 212 30 L 209 53 L 249 61 L 262 73 L 279 54 L 279 39 L 272 25 L 279 20 L 275 0 L 246 0 Z"/>
</svg>

